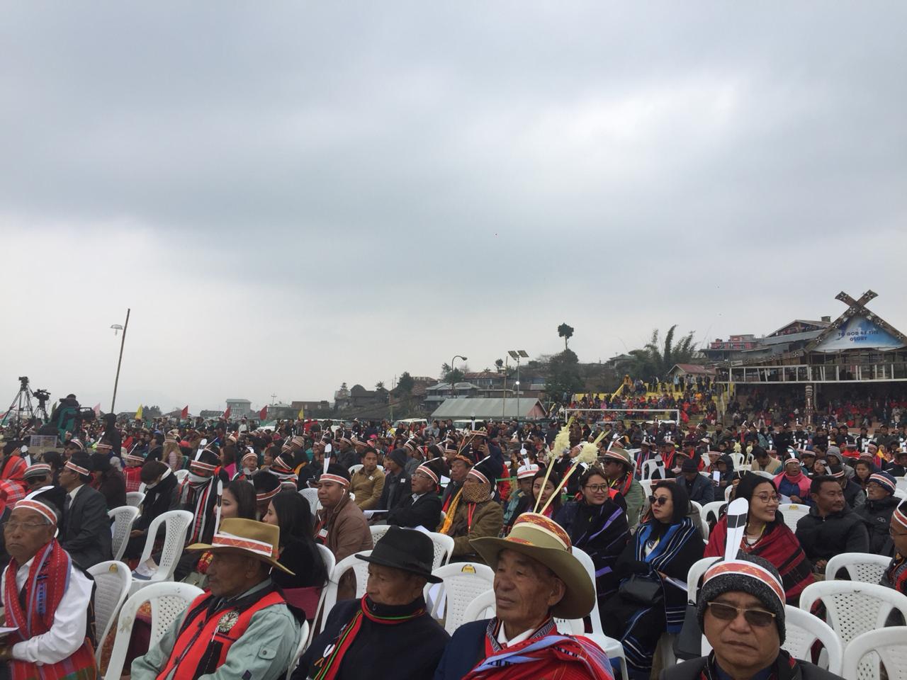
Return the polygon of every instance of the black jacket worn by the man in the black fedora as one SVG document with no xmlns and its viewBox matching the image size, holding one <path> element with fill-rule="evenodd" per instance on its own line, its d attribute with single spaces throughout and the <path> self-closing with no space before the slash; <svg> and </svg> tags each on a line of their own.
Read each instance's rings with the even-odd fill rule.
<svg viewBox="0 0 907 680">
<path fill-rule="evenodd" d="M 312 665 L 322 659 L 336 641 L 340 629 L 346 626 L 361 607 L 362 600 L 337 602 L 327 616 L 325 629 L 308 646 L 293 672 L 293 680 L 305 680 Z M 424 607 L 422 597 L 400 607 L 373 605 L 375 614 L 391 617 L 411 614 Z M 340 663 L 336 680 L 432 680 L 434 669 L 444 655 L 450 636 L 427 612 L 403 623 L 388 625 L 362 617 L 362 625 Z M 312 672 L 315 675 L 315 672 Z"/>
</svg>

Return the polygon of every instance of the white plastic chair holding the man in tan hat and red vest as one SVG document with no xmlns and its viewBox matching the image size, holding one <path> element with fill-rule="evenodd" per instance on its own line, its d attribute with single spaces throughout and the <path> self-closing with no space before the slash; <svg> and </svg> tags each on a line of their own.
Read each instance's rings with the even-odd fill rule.
<svg viewBox="0 0 907 680">
<path fill-rule="evenodd" d="M 151 640 L 149 646 L 161 642 L 161 637 L 171 627 L 171 624 L 180 617 L 192 600 L 203 594 L 201 588 L 190 586 L 188 583 L 174 583 L 164 581 L 152 583 L 148 588 L 142 588 L 140 593 L 132 595 L 120 609 L 120 618 L 117 622 L 116 637 L 113 639 L 111 659 L 107 665 L 104 680 L 120 680 L 122 665 L 126 660 L 126 651 L 129 648 L 129 638 L 132 636 L 132 623 L 139 607 L 145 602 L 151 604 Z"/>
</svg>

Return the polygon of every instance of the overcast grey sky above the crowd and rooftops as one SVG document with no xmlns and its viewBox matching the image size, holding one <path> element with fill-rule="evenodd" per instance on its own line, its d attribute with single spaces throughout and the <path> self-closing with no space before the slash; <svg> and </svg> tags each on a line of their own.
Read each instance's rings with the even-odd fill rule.
<svg viewBox="0 0 907 680">
<path fill-rule="evenodd" d="M 5 3 L 0 399 L 904 330 L 907 5 L 748 5 Z"/>
</svg>

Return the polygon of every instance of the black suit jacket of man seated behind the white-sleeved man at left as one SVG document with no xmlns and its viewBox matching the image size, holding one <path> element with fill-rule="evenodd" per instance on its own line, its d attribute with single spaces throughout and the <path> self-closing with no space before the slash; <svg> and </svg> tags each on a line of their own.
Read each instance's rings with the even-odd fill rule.
<svg viewBox="0 0 907 680">
<path fill-rule="evenodd" d="M 65 500 L 65 499 L 63 499 Z M 63 512 L 61 545 L 79 567 L 87 569 L 112 559 L 111 522 L 100 491 L 83 484 L 69 510 Z"/>
</svg>

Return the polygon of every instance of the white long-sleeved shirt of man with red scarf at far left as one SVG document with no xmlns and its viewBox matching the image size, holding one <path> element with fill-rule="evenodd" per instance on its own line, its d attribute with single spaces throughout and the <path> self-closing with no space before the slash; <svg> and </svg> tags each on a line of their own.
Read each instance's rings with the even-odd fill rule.
<svg viewBox="0 0 907 680">
<path fill-rule="evenodd" d="M 34 558 L 33 558 L 34 559 Z M 33 559 L 29 559 L 15 572 L 16 590 L 21 590 L 28 578 Z M 9 567 L 3 571 L 0 597 L 6 607 L 6 578 Z M 69 587 L 54 612 L 54 625 L 41 636 L 17 642 L 13 646 L 13 658 L 36 664 L 56 664 L 73 656 L 85 641 L 85 617 L 92 600 L 93 582 L 77 568 L 69 575 Z M 9 618 L 6 619 L 9 625 Z"/>
</svg>

